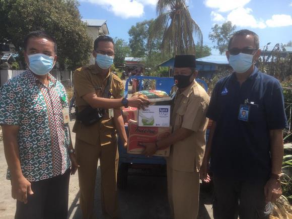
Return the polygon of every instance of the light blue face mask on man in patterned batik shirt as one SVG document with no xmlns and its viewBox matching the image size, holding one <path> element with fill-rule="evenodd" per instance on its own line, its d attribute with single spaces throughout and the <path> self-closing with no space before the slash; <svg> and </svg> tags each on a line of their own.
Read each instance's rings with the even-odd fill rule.
<svg viewBox="0 0 292 219">
<path fill-rule="evenodd" d="M 29 69 L 38 76 L 44 76 L 54 66 L 54 58 L 42 53 L 28 55 Z"/>
</svg>

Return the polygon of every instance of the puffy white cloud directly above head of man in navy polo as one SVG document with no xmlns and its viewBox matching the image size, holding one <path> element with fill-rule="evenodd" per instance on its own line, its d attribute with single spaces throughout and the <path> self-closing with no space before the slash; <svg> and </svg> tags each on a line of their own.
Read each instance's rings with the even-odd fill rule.
<svg viewBox="0 0 292 219">
<path fill-rule="evenodd" d="M 265 28 L 265 22 L 262 19 L 255 19 L 251 12 L 252 9 L 249 8 L 237 8 L 227 16 L 227 20 L 238 27 Z"/>
</svg>

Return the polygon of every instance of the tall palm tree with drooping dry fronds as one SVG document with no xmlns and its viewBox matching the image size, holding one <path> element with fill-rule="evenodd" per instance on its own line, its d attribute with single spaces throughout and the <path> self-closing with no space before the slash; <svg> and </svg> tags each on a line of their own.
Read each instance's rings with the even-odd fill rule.
<svg viewBox="0 0 292 219">
<path fill-rule="evenodd" d="M 203 44 L 203 35 L 199 25 L 192 19 L 185 0 L 159 0 L 158 17 L 154 21 L 154 31 L 164 29 L 162 50 L 173 55 L 195 54 L 195 41 Z"/>
</svg>

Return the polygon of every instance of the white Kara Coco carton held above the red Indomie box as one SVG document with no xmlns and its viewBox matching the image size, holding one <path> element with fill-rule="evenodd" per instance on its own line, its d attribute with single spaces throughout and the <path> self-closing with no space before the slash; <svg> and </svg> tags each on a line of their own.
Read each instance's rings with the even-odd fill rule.
<svg viewBox="0 0 292 219">
<path fill-rule="evenodd" d="M 148 127 L 169 127 L 170 126 L 170 106 L 150 105 L 138 110 L 138 126 Z"/>
</svg>

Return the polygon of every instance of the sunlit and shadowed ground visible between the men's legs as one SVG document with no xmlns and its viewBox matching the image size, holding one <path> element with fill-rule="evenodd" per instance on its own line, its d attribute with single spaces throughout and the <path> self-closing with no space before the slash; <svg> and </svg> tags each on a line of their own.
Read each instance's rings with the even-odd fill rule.
<svg viewBox="0 0 292 219">
<path fill-rule="evenodd" d="M 70 122 L 70 127 L 74 121 Z M 75 133 L 71 133 L 75 144 Z M 0 141 L 0 218 L 14 218 L 16 201 L 11 197 L 10 181 L 6 180 L 7 164 L 4 156 L 3 141 Z M 96 178 L 95 211 L 98 218 L 103 219 L 100 200 L 100 167 Z M 78 174 L 70 178 L 68 218 L 82 218 L 79 205 Z M 213 218 L 211 210 L 212 195 L 201 192 L 199 219 Z M 119 190 L 119 207 L 122 219 L 170 219 L 167 201 L 166 177 L 129 176 L 128 186 Z"/>
</svg>

